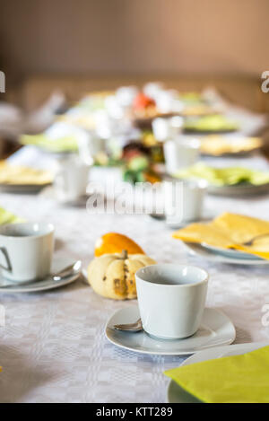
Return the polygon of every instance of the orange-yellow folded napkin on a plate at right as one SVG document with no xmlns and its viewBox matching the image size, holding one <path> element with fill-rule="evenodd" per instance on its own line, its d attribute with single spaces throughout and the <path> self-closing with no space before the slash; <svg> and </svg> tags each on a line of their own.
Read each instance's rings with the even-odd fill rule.
<svg viewBox="0 0 269 421">
<path fill-rule="evenodd" d="M 261 234 L 252 246 L 242 245 Z M 245 215 L 225 213 L 209 224 L 190 224 L 173 233 L 173 237 L 186 242 L 206 243 L 222 249 L 237 249 L 269 259 L 269 222 Z"/>
</svg>

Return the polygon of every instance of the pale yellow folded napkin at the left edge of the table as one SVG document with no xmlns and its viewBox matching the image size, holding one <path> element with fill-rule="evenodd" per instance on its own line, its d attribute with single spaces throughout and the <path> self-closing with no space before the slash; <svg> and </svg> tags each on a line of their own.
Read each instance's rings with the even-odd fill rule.
<svg viewBox="0 0 269 421">
<path fill-rule="evenodd" d="M 0 162 L 0 184 L 45 185 L 52 181 L 52 175 L 48 171 Z"/>
</svg>

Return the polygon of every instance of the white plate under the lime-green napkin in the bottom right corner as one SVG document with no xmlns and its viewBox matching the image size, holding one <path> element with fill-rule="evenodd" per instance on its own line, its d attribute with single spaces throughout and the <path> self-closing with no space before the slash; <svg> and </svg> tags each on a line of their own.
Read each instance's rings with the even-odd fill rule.
<svg viewBox="0 0 269 421">
<path fill-rule="evenodd" d="M 246 354 L 247 352 L 255 351 L 258 348 L 268 345 L 269 342 L 259 342 L 232 346 L 217 346 L 190 356 L 181 364 L 181 366 L 202 363 L 203 361 L 213 360 L 223 356 Z M 173 380 L 169 382 L 167 401 L 168 403 L 201 403 L 199 399 L 196 399 L 193 395 L 187 393 L 186 390 L 182 389 Z"/>
</svg>

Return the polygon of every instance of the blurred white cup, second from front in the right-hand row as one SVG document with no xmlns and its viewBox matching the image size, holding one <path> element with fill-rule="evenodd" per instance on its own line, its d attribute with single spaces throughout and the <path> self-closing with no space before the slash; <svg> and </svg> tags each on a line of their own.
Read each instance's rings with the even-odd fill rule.
<svg viewBox="0 0 269 421">
<path fill-rule="evenodd" d="M 198 221 L 203 217 L 205 180 L 164 181 L 164 209 L 168 224 Z"/>
</svg>

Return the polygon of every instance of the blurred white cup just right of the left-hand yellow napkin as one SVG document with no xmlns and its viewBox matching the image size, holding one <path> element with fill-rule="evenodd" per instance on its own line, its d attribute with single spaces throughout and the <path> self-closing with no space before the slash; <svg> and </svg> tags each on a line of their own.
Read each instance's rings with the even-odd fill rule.
<svg viewBox="0 0 269 421">
<path fill-rule="evenodd" d="M 58 162 L 54 180 L 56 196 L 61 202 L 75 201 L 85 196 L 90 166 L 79 157 L 68 157 Z"/>
</svg>

